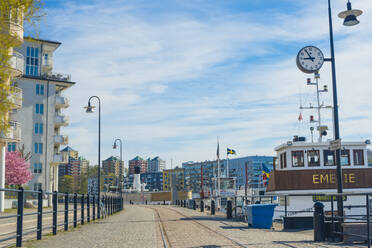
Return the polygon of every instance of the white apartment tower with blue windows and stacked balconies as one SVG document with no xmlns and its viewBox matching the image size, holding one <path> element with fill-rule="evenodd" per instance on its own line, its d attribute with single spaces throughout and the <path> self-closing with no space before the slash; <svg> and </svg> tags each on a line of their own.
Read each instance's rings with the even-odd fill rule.
<svg viewBox="0 0 372 248">
<path fill-rule="evenodd" d="M 24 145 L 31 152 L 32 190 L 58 190 L 58 165 L 68 163 L 68 154 L 60 152 L 60 145 L 67 145 L 68 137 L 61 127 L 69 119 L 63 109 L 69 107 L 69 99 L 63 92 L 73 86 L 71 77 L 53 72 L 53 53 L 60 42 L 24 38 L 21 47 L 15 48 L 25 58 L 25 70 L 16 82 L 23 91 L 23 106 L 14 113 L 20 123 L 22 138 L 19 143 L 9 142 L 8 150 Z"/>
</svg>

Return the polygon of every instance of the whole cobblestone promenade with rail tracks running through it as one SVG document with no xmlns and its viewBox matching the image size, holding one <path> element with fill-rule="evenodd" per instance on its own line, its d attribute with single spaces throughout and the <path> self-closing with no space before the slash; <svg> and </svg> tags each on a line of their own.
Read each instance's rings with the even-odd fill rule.
<svg viewBox="0 0 372 248">
<path fill-rule="evenodd" d="M 248 229 L 198 210 L 173 206 L 126 206 L 121 213 L 26 247 L 340 247 L 314 243 L 313 233 Z M 350 247 L 350 246 L 342 246 Z M 358 247 L 358 246 L 352 246 Z M 365 247 L 365 246 L 361 246 Z"/>
</svg>

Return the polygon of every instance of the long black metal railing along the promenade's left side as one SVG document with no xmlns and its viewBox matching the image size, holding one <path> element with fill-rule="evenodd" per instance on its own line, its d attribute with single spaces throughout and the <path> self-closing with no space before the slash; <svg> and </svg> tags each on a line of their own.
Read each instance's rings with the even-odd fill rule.
<svg viewBox="0 0 372 248">
<path fill-rule="evenodd" d="M 24 240 L 35 238 L 41 240 L 45 233 L 56 235 L 58 230 L 68 231 L 70 227 L 75 228 L 79 224 L 84 225 L 104 218 L 121 211 L 124 207 L 123 197 L 120 194 L 103 195 L 98 199 L 97 195 L 32 191 L 23 188 L 0 188 L 0 192 L 14 194 L 17 197 L 15 200 L 17 213 L 0 215 L 1 230 L 5 230 L 0 233 L 0 244 L 6 246 L 14 245 L 15 240 L 16 247 L 22 247 Z M 35 199 L 37 205 L 35 211 L 25 208 L 25 205 L 30 202 L 29 198 Z M 50 202 L 49 198 L 51 206 L 45 208 L 45 203 Z M 6 227 L 8 230 L 5 229 Z"/>
</svg>

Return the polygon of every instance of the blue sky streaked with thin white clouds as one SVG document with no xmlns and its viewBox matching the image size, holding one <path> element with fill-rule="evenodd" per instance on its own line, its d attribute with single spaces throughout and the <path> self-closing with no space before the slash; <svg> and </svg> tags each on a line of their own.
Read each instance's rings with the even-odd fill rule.
<svg viewBox="0 0 372 248">
<path fill-rule="evenodd" d="M 310 136 L 315 104 L 313 77 L 295 59 L 304 46 L 330 56 L 325 0 L 44 0 L 40 38 L 62 42 L 54 71 L 72 75 L 66 90 L 69 145 L 97 164 L 98 111 L 83 107 L 101 99 L 102 155 L 124 160 L 160 156 L 170 168 L 216 159 L 217 136 L 237 156 L 275 155 L 293 135 Z M 332 1 L 340 134 L 372 138 L 372 2 L 353 0 L 361 23 L 345 27 Z M 332 104 L 330 64 L 320 71 L 321 95 Z M 92 100 L 97 106 L 97 102 Z M 332 113 L 322 120 L 332 138 Z M 316 136 L 317 134 L 315 134 Z M 127 163 L 127 162 L 126 162 Z"/>
</svg>

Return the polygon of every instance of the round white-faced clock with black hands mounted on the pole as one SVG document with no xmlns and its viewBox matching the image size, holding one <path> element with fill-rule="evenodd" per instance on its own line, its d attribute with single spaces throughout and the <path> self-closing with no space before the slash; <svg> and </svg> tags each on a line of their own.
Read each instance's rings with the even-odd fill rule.
<svg viewBox="0 0 372 248">
<path fill-rule="evenodd" d="M 319 71 L 323 63 L 324 55 L 322 51 L 315 46 L 306 46 L 297 54 L 297 67 L 305 73 L 310 74 Z"/>
</svg>

